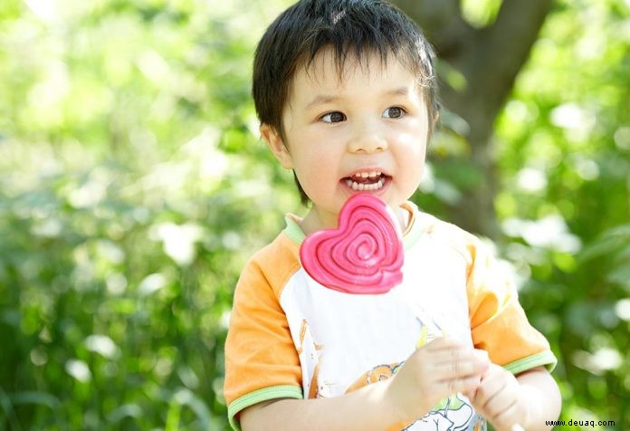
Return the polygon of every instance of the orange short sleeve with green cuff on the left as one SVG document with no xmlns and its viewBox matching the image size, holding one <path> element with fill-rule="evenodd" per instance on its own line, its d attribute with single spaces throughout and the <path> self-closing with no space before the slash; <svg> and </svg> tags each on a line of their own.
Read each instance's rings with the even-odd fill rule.
<svg viewBox="0 0 630 431">
<path fill-rule="evenodd" d="M 301 397 L 300 359 L 278 300 L 295 263 L 270 255 L 273 248 L 245 265 L 234 292 L 225 340 L 224 397 L 231 418 L 274 395 Z"/>
</svg>

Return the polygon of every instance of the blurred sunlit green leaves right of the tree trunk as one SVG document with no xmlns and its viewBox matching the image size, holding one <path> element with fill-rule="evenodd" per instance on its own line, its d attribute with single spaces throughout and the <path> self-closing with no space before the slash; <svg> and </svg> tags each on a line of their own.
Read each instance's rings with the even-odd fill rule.
<svg viewBox="0 0 630 431">
<path fill-rule="evenodd" d="M 629 387 L 618 383 L 630 371 L 622 317 L 630 277 L 628 7 L 558 1 L 496 129 L 504 187 L 495 203 L 515 241 L 506 250 L 531 274 L 521 292 L 530 318 L 564 357 L 557 376 L 568 378 L 565 417 L 619 421 L 628 411 Z M 545 220 L 556 228 L 539 225 Z M 581 248 L 558 249 L 577 239 Z M 547 325 L 545 309 L 557 325 Z"/>
</svg>

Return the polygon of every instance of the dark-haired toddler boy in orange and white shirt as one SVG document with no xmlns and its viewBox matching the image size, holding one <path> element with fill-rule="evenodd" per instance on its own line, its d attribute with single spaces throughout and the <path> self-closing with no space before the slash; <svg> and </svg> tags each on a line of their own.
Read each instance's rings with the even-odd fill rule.
<svg viewBox="0 0 630 431">
<path fill-rule="evenodd" d="M 253 66 L 262 138 L 292 169 L 303 218 L 247 263 L 225 343 L 230 423 L 246 430 L 549 429 L 556 359 L 474 236 L 408 201 L 437 118 L 434 53 L 378 0 L 302 0 Z M 301 267 L 305 235 L 371 193 L 404 232 L 401 284 L 327 289 Z"/>
</svg>

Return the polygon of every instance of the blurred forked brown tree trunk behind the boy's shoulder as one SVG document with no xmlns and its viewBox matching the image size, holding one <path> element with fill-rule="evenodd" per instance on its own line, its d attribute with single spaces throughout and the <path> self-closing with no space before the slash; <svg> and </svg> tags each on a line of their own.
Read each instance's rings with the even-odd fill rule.
<svg viewBox="0 0 630 431">
<path fill-rule="evenodd" d="M 459 0 L 393 1 L 423 28 L 441 61 L 466 79 L 462 90 L 442 81 L 440 91 L 444 106 L 468 123 L 471 162 L 484 178 L 481 187 L 463 190 L 454 211 L 453 221 L 476 234 L 501 236 L 494 212 L 498 184 L 492 129 L 552 1 L 504 0 L 494 23 L 483 28 L 463 20 Z"/>
</svg>

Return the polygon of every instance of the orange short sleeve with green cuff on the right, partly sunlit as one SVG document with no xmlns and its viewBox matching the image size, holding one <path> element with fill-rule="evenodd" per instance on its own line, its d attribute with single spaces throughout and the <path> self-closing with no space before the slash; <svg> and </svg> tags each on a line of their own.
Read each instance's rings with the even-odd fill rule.
<svg viewBox="0 0 630 431">
<path fill-rule="evenodd" d="M 486 350 L 492 362 L 514 374 L 541 365 L 553 369 L 556 358 L 549 342 L 530 325 L 511 278 L 480 241 L 469 244 L 468 251 L 472 261 L 467 293 L 475 348 Z"/>
</svg>

